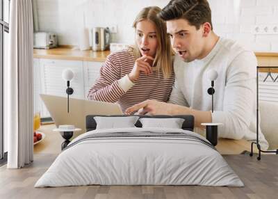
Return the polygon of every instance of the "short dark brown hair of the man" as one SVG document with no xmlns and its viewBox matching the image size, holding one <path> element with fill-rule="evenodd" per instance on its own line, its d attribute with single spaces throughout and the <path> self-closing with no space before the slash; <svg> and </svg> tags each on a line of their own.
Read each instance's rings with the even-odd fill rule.
<svg viewBox="0 0 278 199">
<path fill-rule="evenodd" d="M 211 24 L 211 8 L 206 0 L 171 0 L 165 8 L 161 10 L 158 17 L 165 21 L 172 19 L 186 19 L 191 26 L 198 30 L 202 24 Z"/>
</svg>

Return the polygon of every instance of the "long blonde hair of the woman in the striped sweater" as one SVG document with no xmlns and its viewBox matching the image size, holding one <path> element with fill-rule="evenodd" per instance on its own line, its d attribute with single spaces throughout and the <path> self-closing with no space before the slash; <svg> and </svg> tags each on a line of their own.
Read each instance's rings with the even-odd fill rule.
<svg viewBox="0 0 278 199">
<path fill-rule="evenodd" d="M 173 71 L 173 50 L 171 47 L 170 37 L 167 35 L 166 24 L 157 16 L 160 12 L 161 8 L 158 8 L 157 6 L 143 8 L 133 22 L 133 28 L 136 29 L 138 22 L 141 22 L 145 19 L 154 24 L 154 26 L 156 27 L 156 38 L 158 40 L 158 47 L 156 49 L 156 57 L 154 58 L 153 65 L 156 66 L 158 74 L 159 71 L 162 70 L 163 77 L 170 78 Z M 137 45 L 133 47 L 133 53 L 136 59 L 142 56 Z"/>
</svg>

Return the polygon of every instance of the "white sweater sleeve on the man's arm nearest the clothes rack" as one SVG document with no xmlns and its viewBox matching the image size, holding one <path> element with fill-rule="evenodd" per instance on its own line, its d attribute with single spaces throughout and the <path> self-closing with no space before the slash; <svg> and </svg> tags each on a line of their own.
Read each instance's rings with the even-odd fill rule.
<svg viewBox="0 0 278 199">
<path fill-rule="evenodd" d="M 256 102 L 256 57 L 250 51 L 239 54 L 227 68 L 222 111 L 212 113 L 213 122 L 221 122 L 221 137 L 241 139 L 250 131 Z"/>
</svg>

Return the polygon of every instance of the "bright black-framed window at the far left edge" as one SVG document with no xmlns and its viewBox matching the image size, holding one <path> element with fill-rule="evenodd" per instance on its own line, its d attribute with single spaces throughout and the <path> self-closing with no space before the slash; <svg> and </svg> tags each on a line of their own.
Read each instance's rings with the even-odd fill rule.
<svg viewBox="0 0 278 199">
<path fill-rule="evenodd" d="M 3 68 L 8 64 L 8 33 L 10 21 L 10 0 L 0 0 L 0 159 L 6 157 L 6 135 L 3 132 Z M 1 164 L 1 161 L 0 161 Z"/>
</svg>

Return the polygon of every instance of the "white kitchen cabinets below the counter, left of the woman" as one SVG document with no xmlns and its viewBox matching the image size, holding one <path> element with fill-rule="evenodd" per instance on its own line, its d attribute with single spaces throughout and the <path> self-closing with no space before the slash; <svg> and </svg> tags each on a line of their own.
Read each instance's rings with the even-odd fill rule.
<svg viewBox="0 0 278 199">
<path fill-rule="evenodd" d="M 67 97 L 67 83 L 62 78 L 63 70 L 70 69 L 74 72 L 74 79 L 70 81 L 74 93 L 70 97 L 87 99 L 89 89 L 99 77 L 99 69 L 103 62 L 34 58 L 33 63 L 34 112 L 40 111 L 41 117 L 45 118 L 50 114 L 40 99 L 41 93 Z"/>
</svg>

